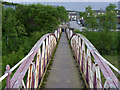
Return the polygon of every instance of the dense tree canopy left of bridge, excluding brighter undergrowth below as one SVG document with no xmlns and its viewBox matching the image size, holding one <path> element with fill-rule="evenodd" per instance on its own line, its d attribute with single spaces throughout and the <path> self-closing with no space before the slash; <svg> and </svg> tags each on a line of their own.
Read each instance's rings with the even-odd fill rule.
<svg viewBox="0 0 120 90">
<path fill-rule="evenodd" d="M 2 11 L 3 55 L 16 52 L 35 31 L 52 32 L 68 16 L 64 7 L 42 4 L 16 5 L 16 9 Z"/>
</svg>

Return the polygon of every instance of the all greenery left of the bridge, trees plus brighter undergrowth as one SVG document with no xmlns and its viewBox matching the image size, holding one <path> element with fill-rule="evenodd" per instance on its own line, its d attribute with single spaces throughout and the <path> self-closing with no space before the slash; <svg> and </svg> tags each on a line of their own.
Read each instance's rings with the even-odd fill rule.
<svg viewBox="0 0 120 90">
<path fill-rule="evenodd" d="M 15 9 L 2 8 L 2 74 L 7 64 L 13 67 L 44 34 L 53 32 L 67 21 L 64 7 L 17 4 Z M 5 81 L 2 83 L 5 87 Z"/>
</svg>

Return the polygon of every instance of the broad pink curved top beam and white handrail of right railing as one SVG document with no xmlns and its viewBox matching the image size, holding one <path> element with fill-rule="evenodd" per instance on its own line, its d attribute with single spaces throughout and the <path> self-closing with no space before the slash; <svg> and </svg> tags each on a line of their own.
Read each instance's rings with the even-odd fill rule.
<svg viewBox="0 0 120 90">
<path fill-rule="evenodd" d="M 79 37 L 82 39 L 82 45 L 84 45 L 84 43 L 85 43 L 85 45 L 87 46 L 87 49 L 90 50 L 90 53 L 94 57 L 93 63 L 94 64 L 96 63 L 97 66 L 100 68 L 100 70 L 101 70 L 102 74 L 104 75 L 109 87 L 110 88 L 113 88 L 113 87 L 119 88 L 119 85 L 118 85 L 119 80 L 118 80 L 117 76 L 113 73 L 113 71 L 111 70 L 110 67 L 112 67 L 117 73 L 119 73 L 120 71 L 116 67 L 114 67 L 112 64 L 110 64 L 107 60 L 105 60 L 100 55 L 98 50 L 92 45 L 92 43 L 83 35 L 78 34 L 78 33 L 75 33 L 75 34 L 73 33 L 72 35 L 70 35 L 70 40 L 72 40 L 72 38 L 73 38 L 75 41 L 77 40 L 75 43 L 78 43 Z"/>
</svg>

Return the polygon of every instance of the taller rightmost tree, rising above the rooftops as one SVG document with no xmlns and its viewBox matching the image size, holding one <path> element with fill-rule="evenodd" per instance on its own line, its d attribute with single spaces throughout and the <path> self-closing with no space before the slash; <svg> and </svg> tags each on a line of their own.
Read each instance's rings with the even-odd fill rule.
<svg viewBox="0 0 120 90">
<path fill-rule="evenodd" d="M 117 14 L 115 4 L 110 4 L 106 7 L 106 13 L 97 16 L 99 19 L 99 27 L 103 31 L 116 30 Z"/>
</svg>

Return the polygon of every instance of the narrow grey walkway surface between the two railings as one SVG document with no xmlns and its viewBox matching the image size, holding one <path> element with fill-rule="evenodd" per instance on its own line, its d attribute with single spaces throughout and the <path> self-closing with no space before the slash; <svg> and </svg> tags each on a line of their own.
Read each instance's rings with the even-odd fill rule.
<svg viewBox="0 0 120 90">
<path fill-rule="evenodd" d="M 45 88 L 84 88 L 66 34 L 63 32 Z"/>
</svg>

